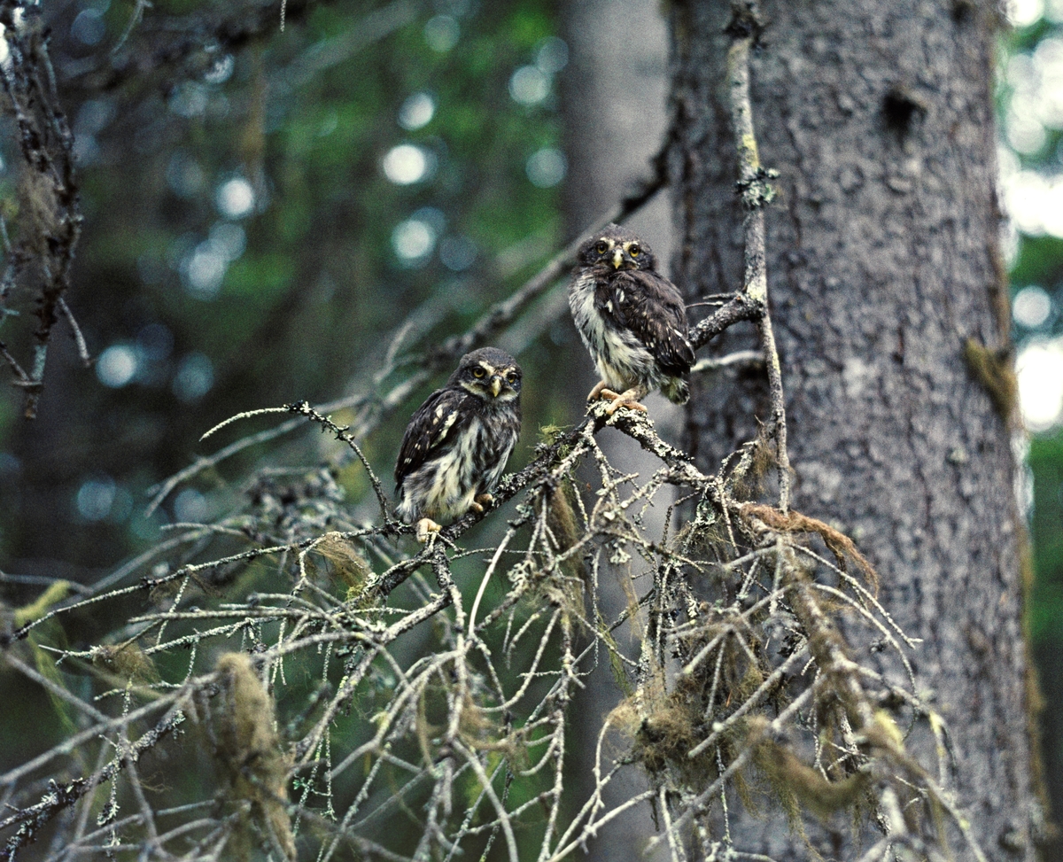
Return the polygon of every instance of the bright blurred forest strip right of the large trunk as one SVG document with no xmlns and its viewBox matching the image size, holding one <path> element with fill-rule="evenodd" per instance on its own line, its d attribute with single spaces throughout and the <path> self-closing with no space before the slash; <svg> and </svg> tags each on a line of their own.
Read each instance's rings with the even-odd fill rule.
<svg viewBox="0 0 1063 862">
<path fill-rule="evenodd" d="M 1014 29 L 1000 49 L 998 117 L 1016 372 L 1030 433 L 1019 494 L 1033 544 L 1028 614 L 1048 704 L 1044 755 L 1060 812 L 1063 715 L 1054 707 L 1063 703 L 1063 3 L 1018 0 L 1009 13 Z"/>
</svg>

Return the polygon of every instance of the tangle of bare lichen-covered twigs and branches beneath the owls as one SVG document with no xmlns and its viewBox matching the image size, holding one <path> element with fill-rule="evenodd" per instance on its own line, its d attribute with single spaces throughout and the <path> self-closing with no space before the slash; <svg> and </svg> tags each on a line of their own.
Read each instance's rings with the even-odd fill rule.
<svg viewBox="0 0 1063 862">
<path fill-rule="evenodd" d="M 352 445 L 327 418 L 291 409 Z M 606 426 L 653 453 L 659 468 L 618 471 L 596 442 Z M 905 750 L 900 728 L 939 722 L 908 676 L 913 646 L 902 632 L 882 638 L 900 678 L 911 679 L 898 687 L 834 623 L 845 614 L 875 632 L 895 627 L 874 598 L 874 572 L 828 525 L 737 494 L 767 467 L 755 450 L 708 475 L 646 416 L 609 416 L 596 404 L 503 481 L 491 510 L 458 520 L 423 548 L 379 515 L 372 476 L 366 503 L 375 523 L 353 517 L 327 471 L 257 476 L 243 507 L 183 528 L 198 537 L 195 560 L 48 614 L 62 626 L 86 601 L 104 607 L 139 593 L 145 612 L 128 620 L 120 643 L 49 646 L 60 664 L 43 682 L 29 635 L 47 639 L 47 629 L 35 621 L 7 641 L 24 653 L 12 652 L 10 664 L 53 693 L 64 669 L 90 672 L 98 692 L 81 710 L 87 731 L 0 776 L 13 807 L 0 824 L 11 830 L 9 847 L 24 846 L 46 823 L 70 828 L 79 811 L 100 805 L 105 781 L 123 788 L 105 807 L 109 845 L 149 859 L 255 845 L 275 858 L 334 859 L 348 846 L 389 858 L 478 858 L 497 840 L 508 858 L 560 860 L 618 817 L 645 817 L 652 828 L 654 811 L 676 858 L 743 858 L 721 831 L 721 806 L 757 798 L 783 806 L 795 829 L 805 817 L 864 811 L 892 830 L 887 847 L 938 847 L 949 821 L 962 835 L 962 812 L 928 778 L 947 771 Z M 580 464 L 598 475 L 596 487 L 573 481 Z M 674 535 L 646 535 L 643 514 L 668 485 L 684 489 L 694 511 Z M 499 529 L 497 509 L 510 502 Z M 595 589 L 607 560 L 629 578 L 630 605 L 615 619 Z M 624 625 L 640 632 L 634 652 L 614 633 Z M 238 661 L 226 658 L 234 649 Z M 875 667 L 881 662 L 876 655 Z M 578 799 L 566 782 L 566 727 L 574 690 L 601 663 L 624 698 L 604 719 L 592 795 Z M 229 788 L 225 806 L 204 809 L 193 795 L 156 810 L 140 791 L 145 770 L 120 753 L 77 792 L 48 790 L 55 775 L 64 776 L 52 779 L 57 787 L 72 787 L 77 764 L 116 729 L 166 745 L 145 734 L 158 709 L 175 714 L 179 706 L 221 758 L 215 775 Z M 606 788 L 630 770 L 654 789 L 606 805 Z M 126 796 L 134 813 L 119 817 Z M 878 801 L 866 808 L 867 799 Z M 891 825 L 891 799 L 905 811 L 904 832 Z M 165 819 L 178 802 L 195 811 L 185 832 Z M 425 812 L 422 828 L 384 828 L 400 808 Z M 91 858 L 99 834 L 71 834 L 49 858 Z"/>
</svg>

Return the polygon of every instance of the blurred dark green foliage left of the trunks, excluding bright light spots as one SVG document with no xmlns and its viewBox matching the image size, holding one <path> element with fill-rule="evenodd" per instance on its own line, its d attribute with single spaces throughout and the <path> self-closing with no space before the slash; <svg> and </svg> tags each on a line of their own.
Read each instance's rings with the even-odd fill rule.
<svg viewBox="0 0 1063 862">
<path fill-rule="evenodd" d="M 96 53 L 78 62 L 108 64 L 130 12 L 113 4 Z M 208 28 L 225 17 L 255 35 L 232 54 L 192 39 L 181 49 L 190 54 L 172 54 L 184 60 L 153 77 L 124 75 L 100 91 L 87 74 L 61 92 L 85 153 L 84 234 L 67 300 L 94 357 L 117 347 L 132 351 L 137 366 L 128 382 L 107 387 L 72 357 L 53 356 L 46 392 L 62 404 L 63 423 L 47 451 L 13 435 L 7 418 L 19 412 L 21 392 L 0 388 L 0 459 L 15 453 L 21 483 L 17 497 L 0 494 L 0 568 L 41 555 L 109 564 L 142 550 L 158 525 L 184 518 L 173 500 L 149 522 L 128 504 L 86 521 L 77 504 L 85 481 L 114 483 L 121 500 L 142 498 L 187 462 L 216 419 L 339 396 L 382 360 L 382 335 L 414 307 L 431 308 L 431 344 L 504 297 L 557 246 L 557 190 L 537 187 L 525 172 L 532 153 L 559 142 L 557 96 L 525 106 L 509 94 L 513 71 L 534 63 L 555 31 L 549 2 L 446 5 L 458 29 L 449 50 L 426 38 L 425 24 L 439 13 L 432 6 L 368 40 L 366 16 L 379 10 L 356 0 L 289 11 L 300 17 L 283 34 L 273 12 L 256 30 L 257 6 L 154 4 L 122 51 L 167 56 L 167 28 Z M 54 29 L 56 65 L 86 53 L 69 31 L 69 21 Z M 416 94 L 432 100 L 432 116 L 404 129 L 399 114 Z M 383 170 L 403 143 L 427 155 L 420 182 L 396 184 Z M 0 182 L 0 206 L 15 231 L 24 195 L 12 145 L 0 143 L 13 166 Z M 254 206 L 226 216 L 218 195 L 234 179 L 248 184 Z M 427 255 L 404 261 L 393 235 L 409 219 L 435 237 Z M 212 256 L 222 247 L 232 259 Z M 504 271 L 493 263 L 500 255 L 510 261 Z M 31 335 L 32 308 L 0 318 L 0 339 L 15 354 L 26 356 Z M 63 451 L 63 471 L 39 488 L 27 476 L 46 474 L 49 451 Z M 386 463 L 393 450 L 375 455 Z M 247 466 L 238 457 L 219 478 Z M 214 487 L 210 505 L 226 505 L 223 485 Z M 47 548 L 45 525 L 31 518 L 44 511 L 70 522 Z"/>
</svg>

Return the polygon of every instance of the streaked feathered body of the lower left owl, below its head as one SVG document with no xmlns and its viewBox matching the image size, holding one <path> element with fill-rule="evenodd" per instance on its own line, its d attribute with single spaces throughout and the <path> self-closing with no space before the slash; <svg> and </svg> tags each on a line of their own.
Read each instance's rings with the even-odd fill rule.
<svg viewBox="0 0 1063 862">
<path fill-rule="evenodd" d="M 457 518 L 502 477 L 520 436 L 520 401 L 487 402 L 448 386 L 406 426 L 395 463 L 399 514 Z"/>
</svg>

